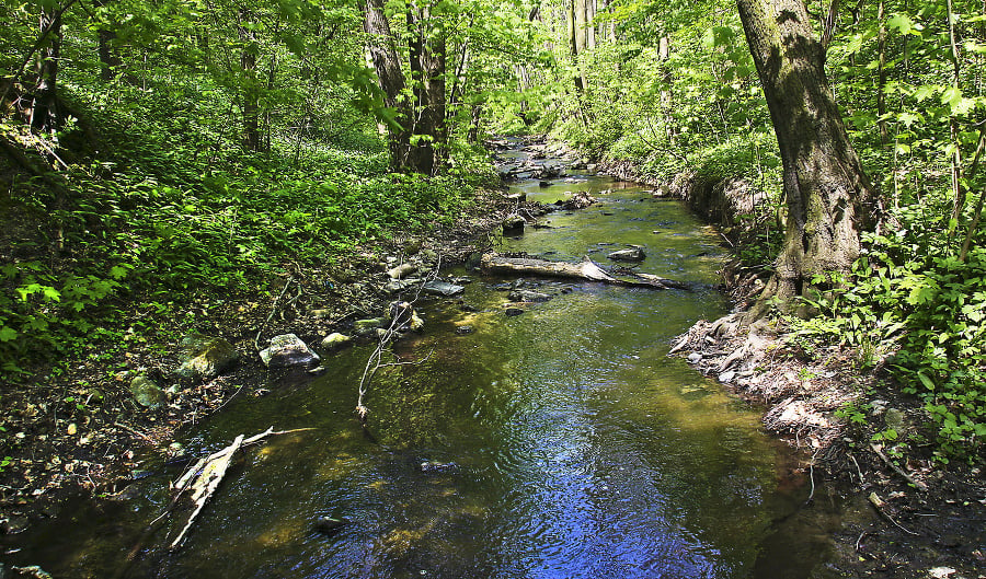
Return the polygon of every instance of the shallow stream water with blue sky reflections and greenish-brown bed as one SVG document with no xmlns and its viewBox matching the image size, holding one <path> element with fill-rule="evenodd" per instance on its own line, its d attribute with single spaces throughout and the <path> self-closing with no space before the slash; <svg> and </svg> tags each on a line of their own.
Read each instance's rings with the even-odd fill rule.
<svg viewBox="0 0 986 579">
<path fill-rule="evenodd" d="M 571 173 L 512 189 L 599 202 L 497 251 L 608 266 L 634 244 L 640 271 L 693 290 L 449 271 L 472 281 L 419 302 L 424 331 L 394 348 L 417 363 L 379 373 L 370 436 L 353 417 L 367 345 L 326 356 L 321 378 L 234 398 L 182 440 L 197 454 L 272 425 L 313 428 L 248 451 L 177 553 L 165 545 L 180 518 L 124 563 L 181 467 L 127 500 L 66 505 L 15 558 L 56 578 L 834 577 L 835 499 L 791 474 L 800 463 L 760 431 L 758 408 L 667 356 L 727 312 L 718 234 L 635 184 Z M 507 315 L 518 285 L 552 299 Z M 318 516 L 349 522 L 324 534 Z"/>
</svg>

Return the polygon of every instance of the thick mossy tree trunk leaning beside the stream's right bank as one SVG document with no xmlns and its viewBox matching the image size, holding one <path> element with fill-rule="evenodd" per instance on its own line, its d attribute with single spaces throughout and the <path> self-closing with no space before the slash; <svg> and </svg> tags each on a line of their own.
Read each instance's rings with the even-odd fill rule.
<svg viewBox="0 0 986 579">
<path fill-rule="evenodd" d="M 850 269 L 860 231 L 874 215 L 873 189 L 833 99 L 825 50 L 803 0 L 737 5 L 777 132 L 788 207 L 784 247 L 754 312 L 761 315 L 770 298 L 790 305 L 816 276 Z"/>
</svg>

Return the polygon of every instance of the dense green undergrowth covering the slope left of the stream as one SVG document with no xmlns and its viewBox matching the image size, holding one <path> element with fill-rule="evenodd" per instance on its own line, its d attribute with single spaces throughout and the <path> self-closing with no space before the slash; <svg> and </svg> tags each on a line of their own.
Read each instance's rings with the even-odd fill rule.
<svg viewBox="0 0 986 579">
<path fill-rule="evenodd" d="M 244 154 L 215 127 L 172 130 L 177 121 L 160 112 L 94 117 L 96 147 L 59 150 L 73 159 L 60 186 L 12 164 L 4 171 L 0 368 L 8 381 L 39 360 L 121 339 L 127 303 L 160 313 L 193 296 L 234 297 L 368 241 L 451 223 L 493 176 L 481 151 L 466 148 L 447 175 L 389 173 L 371 127 L 307 140 L 303 154 L 287 138 L 270 153 Z M 9 142 L 38 139 L 11 119 L 0 129 Z M 57 149 L 83 140 L 80 131 L 31 142 Z"/>
</svg>

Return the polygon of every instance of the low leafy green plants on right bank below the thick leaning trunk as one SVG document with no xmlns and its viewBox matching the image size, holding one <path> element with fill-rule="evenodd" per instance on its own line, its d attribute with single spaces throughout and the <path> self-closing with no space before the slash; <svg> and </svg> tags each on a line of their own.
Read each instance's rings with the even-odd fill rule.
<svg viewBox="0 0 986 579">
<path fill-rule="evenodd" d="M 986 436 L 986 250 L 961 262 L 922 207 L 896 218 L 898 231 L 869 238 L 851 283 L 815 280 L 832 287 L 804 300 L 815 315 L 791 319 L 791 339 L 850 347 L 863 368 L 885 360 L 903 392 L 925 403 L 940 458 L 974 455 Z"/>
</svg>

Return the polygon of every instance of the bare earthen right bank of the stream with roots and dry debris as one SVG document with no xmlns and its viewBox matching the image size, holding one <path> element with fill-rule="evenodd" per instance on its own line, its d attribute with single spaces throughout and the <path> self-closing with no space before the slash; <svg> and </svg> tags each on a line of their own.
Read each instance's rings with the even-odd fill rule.
<svg viewBox="0 0 986 579">
<path fill-rule="evenodd" d="M 681 199 L 718 224 L 734 251 L 763 243 L 750 235 L 750 216 L 769 199 L 742 178 L 692 170 L 655 181 L 626 160 L 603 161 L 599 167 Z M 779 219 L 773 227 L 781 229 Z M 734 313 L 700 321 L 678 338 L 675 350 L 731 392 L 764 405 L 765 428 L 809 455 L 812 476 L 842 497 L 845 522 L 834 533 L 834 565 L 850 577 L 986 577 L 983 456 L 964 464 L 936 461 L 927 442 L 933 436 L 922 432 L 926 410 L 890 383 L 883 360 L 863 368 L 855 351 L 806 351 L 779 319 L 744 326 L 743 313 L 769 270 L 743 268 L 732 259 L 722 274 Z M 886 428 L 908 447 L 898 453 L 894 441 L 881 441 L 878 433 Z"/>
</svg>

